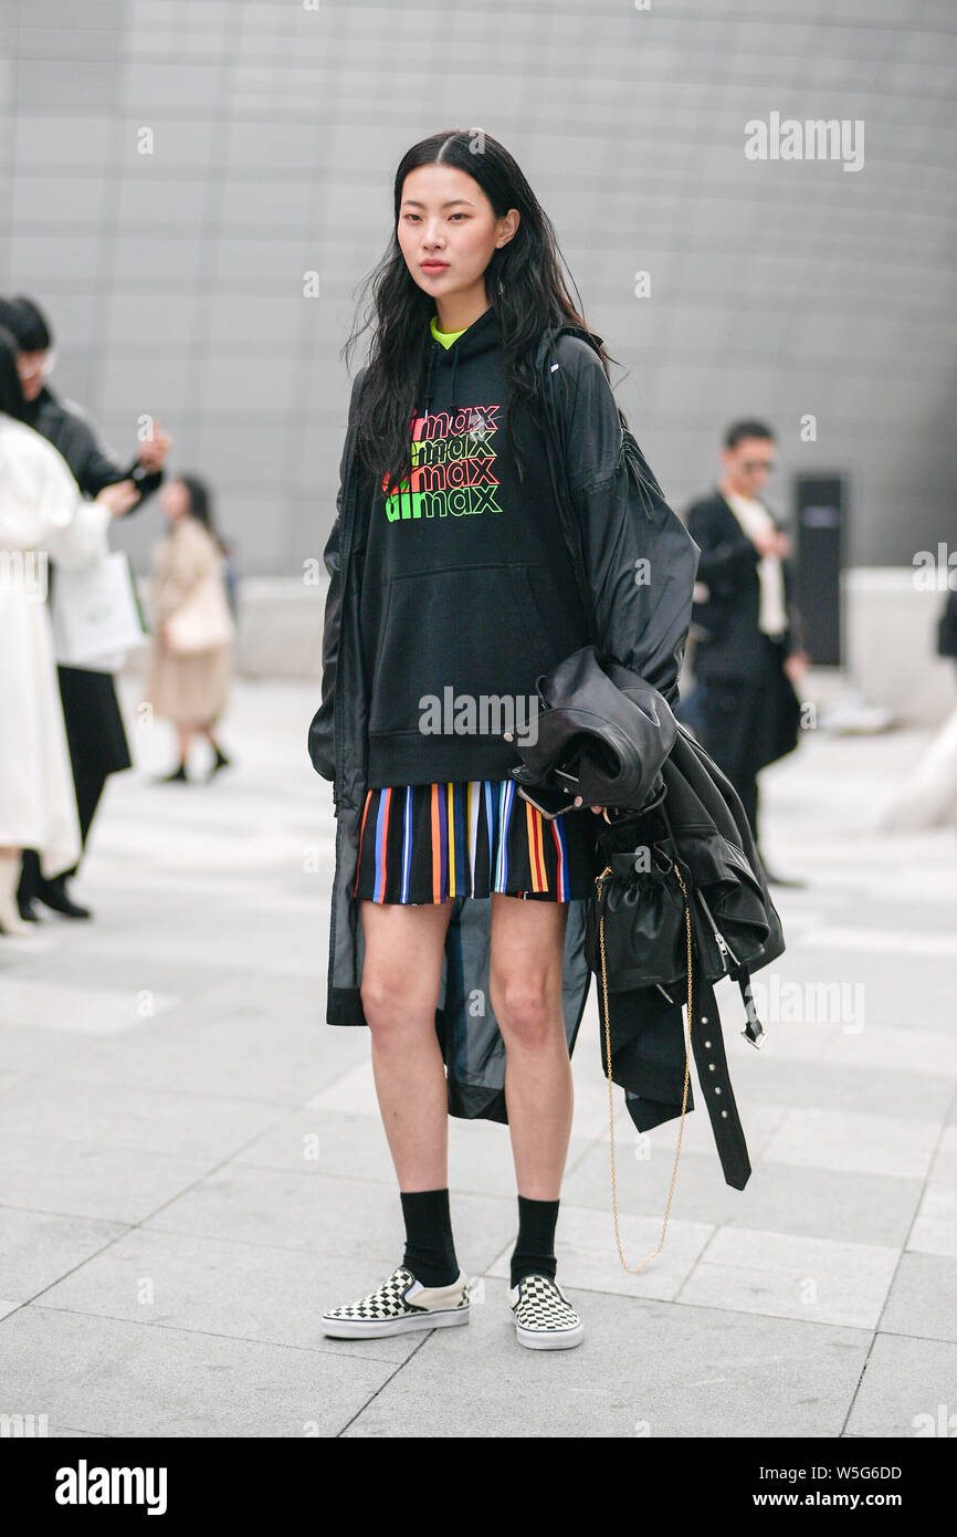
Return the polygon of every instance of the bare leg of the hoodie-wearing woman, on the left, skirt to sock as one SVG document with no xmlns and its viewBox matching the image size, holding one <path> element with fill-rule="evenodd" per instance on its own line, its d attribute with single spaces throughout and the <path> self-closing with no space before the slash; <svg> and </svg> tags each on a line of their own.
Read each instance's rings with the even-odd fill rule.
<svg viewBox="0 0 957 1537">
<path fill-rule="evenodd" d="M 399 1190 L 449 1183 L 449 1091 L 435 1010 L 452 902 L 361 901 L 361 998 Z"/>
</svg>

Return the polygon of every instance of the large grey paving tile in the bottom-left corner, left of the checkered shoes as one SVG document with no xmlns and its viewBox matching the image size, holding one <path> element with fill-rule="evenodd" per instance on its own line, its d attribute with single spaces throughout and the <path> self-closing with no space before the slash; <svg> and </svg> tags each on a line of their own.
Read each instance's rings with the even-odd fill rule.
<svg viewBox="0 0 957 1537">
<path fill-rule="evenodd" d="M 335 1436 L 396 1369 L 35 1306 L 3 1319 L 0 1348 L 6 1413 L 100 1436 Z"/>
</svg>

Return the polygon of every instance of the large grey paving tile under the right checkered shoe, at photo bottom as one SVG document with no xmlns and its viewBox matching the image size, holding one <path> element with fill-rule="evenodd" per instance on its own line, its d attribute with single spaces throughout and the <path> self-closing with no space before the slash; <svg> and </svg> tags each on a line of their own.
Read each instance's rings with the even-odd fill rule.
<svg viewBox="0 0 957 1537">
<path fill-rule="evenodd" d="M 347 1437 L 837 1436 L 869 1334 L 682 1308 L 562 1283 L 585 1337 L 531 1351 L 505 1282 L 465 1330 L 436 1330 Z"/>
</svg>

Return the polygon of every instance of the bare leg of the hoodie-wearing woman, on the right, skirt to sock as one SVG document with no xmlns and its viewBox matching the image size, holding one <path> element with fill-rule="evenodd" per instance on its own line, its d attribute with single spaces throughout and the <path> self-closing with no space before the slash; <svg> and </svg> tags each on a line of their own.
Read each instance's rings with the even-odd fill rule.
<svg viewBox="0 0 957 1537">
<path fill-rule="evenodd" d="M 492 896 L 490 1002 L 505 1042 L 505 1105 L 518 1191 L 558 1200 L 573 1085 L 562 1016 L 567 902 Z"/>
</svg>

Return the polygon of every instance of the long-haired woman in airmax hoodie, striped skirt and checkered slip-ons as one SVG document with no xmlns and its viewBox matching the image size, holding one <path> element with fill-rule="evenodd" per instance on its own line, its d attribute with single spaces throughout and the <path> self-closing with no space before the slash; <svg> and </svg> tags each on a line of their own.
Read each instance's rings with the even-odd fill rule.
<svg viewBox="0 0 957 1537">
<path fill-rule="evenodd" d="M 650 472 L 650 510 L 633 512 L 608 357 L 512 155 L 485 134 L 433 135 L 402 158 L 393 197 L 324 552 L 309 750 L 338 819 L 327 1019 L 370 1027 L 406 1253 L 323 1326 L 376 1337 L 469 1320 L 452 1108 L 508 1124 L 516 1336 L 565 1348 L 582 1323 L 556 1280 L 555 1228 L 594 822 L 584 807 L 547 821 L 510 768 L 536 678 L 590 641 L 674 695 L 696 547 Z M 648 593 L 636 564 L 654 536 L 667 553 Z"/>
</svg>

